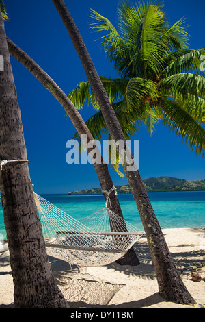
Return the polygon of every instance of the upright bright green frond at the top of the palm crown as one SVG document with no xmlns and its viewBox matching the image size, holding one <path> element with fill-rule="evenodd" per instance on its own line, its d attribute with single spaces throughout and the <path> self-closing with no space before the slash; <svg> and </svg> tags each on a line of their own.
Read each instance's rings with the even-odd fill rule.
<svg viewBox="0 0 205 322">
<path fill-rule="evenodd" d="M 125 49 L 107 54 L 122 77 L 148 77 L 159 73 L 163 66 L 167 43 L 163 39 L 167 27 L 162 5 L 157 1 L 139 2 L 136 6 L 123 2 L 118 9 L 119 28 L 123 34 Z M 120 51 L 120 52 L 119 52 Z M 121 55 L 121 56 L 120 56 Z"/>
</svg>

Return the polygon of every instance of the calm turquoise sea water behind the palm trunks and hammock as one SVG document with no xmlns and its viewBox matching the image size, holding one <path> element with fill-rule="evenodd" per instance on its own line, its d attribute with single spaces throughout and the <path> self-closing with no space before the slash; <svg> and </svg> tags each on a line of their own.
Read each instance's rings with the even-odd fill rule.
<svg viewBox="0 0 205 322">
<path fill-rule="evenodd" d="M 205 227 L 205 191 L 148 193 L 162 229 Z M 55 206 L 79 220 L 105 206 L 102 195 L 42 195 Z M 124 219 L 142 230 L 141 220 L 131 194 L 118 194 Z M 0 233 L 5 236 L 0 204 Z"/>
</svg>

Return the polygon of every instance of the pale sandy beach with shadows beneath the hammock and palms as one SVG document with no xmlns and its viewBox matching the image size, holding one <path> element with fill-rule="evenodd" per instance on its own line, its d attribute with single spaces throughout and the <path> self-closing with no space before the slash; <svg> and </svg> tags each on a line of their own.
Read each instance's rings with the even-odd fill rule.
<svg viewBox="0 0 205 322">
<path fill-rule="evenodd" d="M 191 271 L 205 277 L 205 230 L 180 228 L 163 230 L 182 280 L 197 304 L 186 306 L 165 301 L 158 285 L 146 237 L 135 244 L 141 264 L 137 267 L 113 263 L 105 267 L 70 267 L 49 257 L 53 275 L 71 308 L 202 308 L 205 281 L 194 282 Z M 185 272 L 182 273 L 182 270 Z M 186 273 L 188 269 L 188 273 Z M 0 253 L 0 308 L 14 308 L 14 285 L 9 252 Z"/>
</svg>

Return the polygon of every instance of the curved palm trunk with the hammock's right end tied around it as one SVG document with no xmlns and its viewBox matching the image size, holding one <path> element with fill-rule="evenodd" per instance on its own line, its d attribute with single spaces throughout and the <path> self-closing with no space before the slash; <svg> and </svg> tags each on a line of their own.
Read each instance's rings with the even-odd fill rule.
<svg viewBox="0 0 205 322">
<path fill-rule="evenodd" d="M 68 99 L 67 95 L 57 86 L 57 84 L 51 79 L 51 77 L 46 74 L 41 67 L 36 64 L 32 60 L 32 58 L 27 55 L 22 49 L 20 49 L 12 40 L 7 38 L 8 41 L 8 48 L 10 51 L 10 54 L 18 60 L 23 66 L 25 66 L 32 74 L 36 77 L 36 79 L 39 80 L 39 82 L 47 89 L 51 94 L 59 101 L 61 106 L 64 108 L 68 116 L 70 117 L 70 120 L 72 121 L 75 129 L 79 133 L 79 136 L 82 134 L 87 135 L 87 143 L 90 142 L 90 140 L 94 140 L 92 134 L 90 133 L 90 130 L 88 129 L 87 125 L 83 121 L 81 114 L 77 111 L 77 109 L 74 107 L 72 101 Z M 96 148 L 97 149 L 97 148 Z M 88 153 L 92 151 L 92 149 L 87 148 Z M 100 151 L 98 151 L 100 155 Z M 105 164 L 102 160 L 101 156 L 101 163 L 97 164 L 94 163 L 94 168 L 96 170 L 96 173 L 98 175 L 98 179 L 100 182 L 100 186 L 102 190 L 109 191 L 113 187 L 113 181 L 111 179 L 111 176 L 108 171 L 108 166 Z M 104 194 L 104 197 L 106 199 L 106 195 Z M 115 194 L 115 191 L 112 191 L 110 193 L 110 202 L 108 202 L 108 208 L 110 208 L 115 214 L 118 214 L 123 218 L 122 209 L 120 207 L 120 202 L 118 200 L 118 196 Z M 111 230 L 114 227 L 111 227 Z M 121 265 L 131 265 L 136 266 L 139 265 L 139 259 L 137 258 L 137 255 L 131 247 L 131 249 L 128 250 L 126 255 L 123 258 L 120 258 L 120 260 L 117 261 L 118 264 Z"/>
</svg>

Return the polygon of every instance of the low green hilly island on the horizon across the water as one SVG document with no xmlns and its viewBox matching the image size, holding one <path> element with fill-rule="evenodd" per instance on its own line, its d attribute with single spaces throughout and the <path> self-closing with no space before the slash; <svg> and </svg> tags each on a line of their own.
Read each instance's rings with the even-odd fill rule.
<svg viewBox="0 0 205 322">
<path fill-rule="evenodd" d="M 144 179 L 143 184 L 148 193 L 151 192 L 169 192 L 169 191 L 205 191 L 205 179 L 188 181 L 175 177 L 150 177 Z M 118 193 L 130 193 L 131 188 L 126 186 L 115 186 Z M 83 194 L 83 193 L 102 193 L 100 188 L 85 189 L 72 191 L 68 195 Z"/>
</svg>

